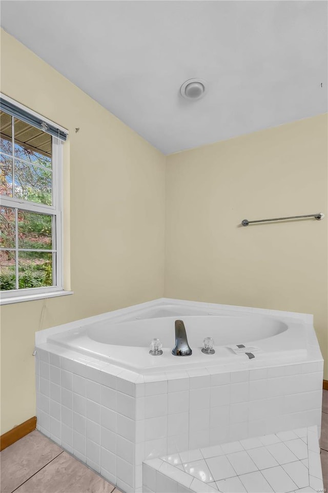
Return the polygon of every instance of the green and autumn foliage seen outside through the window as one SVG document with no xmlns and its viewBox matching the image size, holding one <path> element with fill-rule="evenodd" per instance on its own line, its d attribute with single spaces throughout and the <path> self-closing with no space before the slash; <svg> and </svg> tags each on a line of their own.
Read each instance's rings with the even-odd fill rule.
<svg viewBox="0 0 328 493">
<path fill-rule="evenodd" d="M 3 118 L 4 115 L 5 119 Z M 28 202 L 51 205 L 51 155 L 43 151 L 38 151 L 38 149 L 31 149 L 30 146 L 25 145 L 22 142 L 17 143 L 16 133 L 14 153 L 12 153 L 12 138 L 11 134 L 8 135 L 10 132 L 10 125 L 7 125 L 7 138 L 6 133 L 4 133 L 6 132 L 6 122 L 9 121 L 7 117 L 9 116 L 6 116 L 3 112 L 1 116 L 0 195 L 12 197 L 12 176 L 14 171 L 14 195 L 16 198 Z M 15 119 L 15 125 L 17 122 L 23 125 L 23 122 L 19 122 Z M 31 126 L 28 127 L 29 131 L 34 128 Z M 45 135 L 46 138 L 49 139 L 47 144 L 49 144 L 49 149 L 51 149 L 51 136 Z M 51 252 L 40 251 L 53 250 L 54 248 L 52 244 L 53 220 L 53 216 L 50 214 L 41 214 L 18 209 L 18 289 L 39 288 L 53 285 L 53 254 Z M 0 251 L 0 289 L 2 291 L 9 291 L 16 289 L 15 251 L 6 250 L 14 249 L 16 247 L 14 207 L 0 207 L 0 226 L 0 247 L 3 248 L 3 250 Z M 26 252 L 20 249 L 32 249 L 35 251 Z"/>
</svg>

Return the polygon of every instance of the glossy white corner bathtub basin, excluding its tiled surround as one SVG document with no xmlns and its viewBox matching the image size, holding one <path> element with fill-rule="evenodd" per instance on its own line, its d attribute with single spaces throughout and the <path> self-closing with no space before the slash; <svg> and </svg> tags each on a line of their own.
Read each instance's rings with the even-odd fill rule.
<svg viewBox="0 0 328 493">
<path fill-rule="evenodd" d="M 200 304 L 202 305 L 202 304 Z M 205 305 L 205 304 L 203 304 Z M 186 302 L 160 302 L 157 306 L 136 307 L 129 313 L 116 312 L 81 320 L 76 327 L 49 333 L 47 342 L 92 356 L 138 372 L 168 370 L 174 367 L 197 368 L 240 362 L 247 355 L 236 355 L 230 346 L 259 348 L 257 361 L 267 364 L 281 358 L 293 361 L 304 357 L 306 337 L 304 320 L 293 316 L 252 313 L 252 309 L 193 307 Z M 119 311 L 121 312 L 121 311 Z M 175 320 L 182 319 L 193 350 L 189 357 L 173 356 Z M 201 352 L 204 337 L 212 337 L 215 354 Z M 159 338 L 161 356 L 149 354 L 149 343 Z"/>
</svg>

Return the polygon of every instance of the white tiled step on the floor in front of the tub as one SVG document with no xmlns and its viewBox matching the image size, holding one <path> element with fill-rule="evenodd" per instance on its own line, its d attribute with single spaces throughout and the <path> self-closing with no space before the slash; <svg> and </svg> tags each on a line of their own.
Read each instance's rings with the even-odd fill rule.
<svg viewBox="0 0 328 493">
<path fill-rule="evenodd" d="M 323 491 L 316 426 L 146 461 L 144 493 Z"/>
</svg>

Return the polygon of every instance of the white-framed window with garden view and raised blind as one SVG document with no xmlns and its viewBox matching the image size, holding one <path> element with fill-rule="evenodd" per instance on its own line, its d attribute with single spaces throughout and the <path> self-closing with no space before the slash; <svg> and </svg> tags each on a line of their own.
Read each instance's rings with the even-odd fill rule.
<svg viewBox="0 0 328 493">
<path fill-rule="evenodd" d="M 14 104 L 13 104 L 14 103 Z M 1 97 L 0 289 L 2 302 L 63 291 L 63 129 Z"/>
</svg>

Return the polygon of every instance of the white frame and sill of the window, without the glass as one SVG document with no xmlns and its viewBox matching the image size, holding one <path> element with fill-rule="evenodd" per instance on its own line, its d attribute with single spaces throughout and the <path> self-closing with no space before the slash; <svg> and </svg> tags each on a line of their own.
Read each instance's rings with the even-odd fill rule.
<svg viewBox="0 0 328 493">
<path fill-rule="evenodd" d="M 3 99 L 7 99 L 13 102 L 12 99 L 6 98 L 3 94 L 1 95 Z M 29 108 L 14 102 L 16 106 L 37 115 L 34 111 L 32 112 Z M 47 121 L 52 125 L 56 125 L 50 120 L 45 119 L 43 116 L 38 115 L 40 120 Z M 13 122 L 13 119 L 12 119 Z M 61 127 L 60 127 L 61 128 Z M 66 130 L 67 132 L 67 130 Z M 68 132 L 67 132 L 68 133 Z M 12 131 L 12 138 L 14 139 L 14 132 Z M 30 202 L 28 200 L 22 200 L 16 197 L 7 197 L 4 195 L 0 196 L 1 205 L 3 207 L 13 207 L 16 214 L 16 244 L 15 252 L 24 251 L 24 249 L 18 249 L 18 234 L 17 234 L 17 211 L 18 209 L 23 211 L 30 211 L 41 214 L 48 214 L 54 217 L 52 221 L 52 270 L 53 279 L 56 282 L 55 286 L 45 286 L 42 288 L 26 288 L 26 289 L 13 289 L 8 291 L 1 291 L 0 293 L 0 305 L 6 305 L 9 303 L 15 303 L 18 301 L 28 301 L 32 299 L 41 299 L 54 296 L 62 296 L 72 294 L 71 291 L 64 290 L 64 269 L 63 269 L 63 141 L 52 136 L 52 205 L 39 204 L 35 202 Z M 14 144 L 13 150 L 14 153 Z M 14 176 L 13 176 L 14 182 Z M 2 247 L 1 250 L 10 250 L 8 248 Z M 31 249 L 32 250 L 32 249 Z M 47 252 L 48 250 L 45 250 Z M 18 261 L 17 253 L 15 254 L 15 269 L 16 269 L 16 280 L 18 279 Z"/>
</svg>

